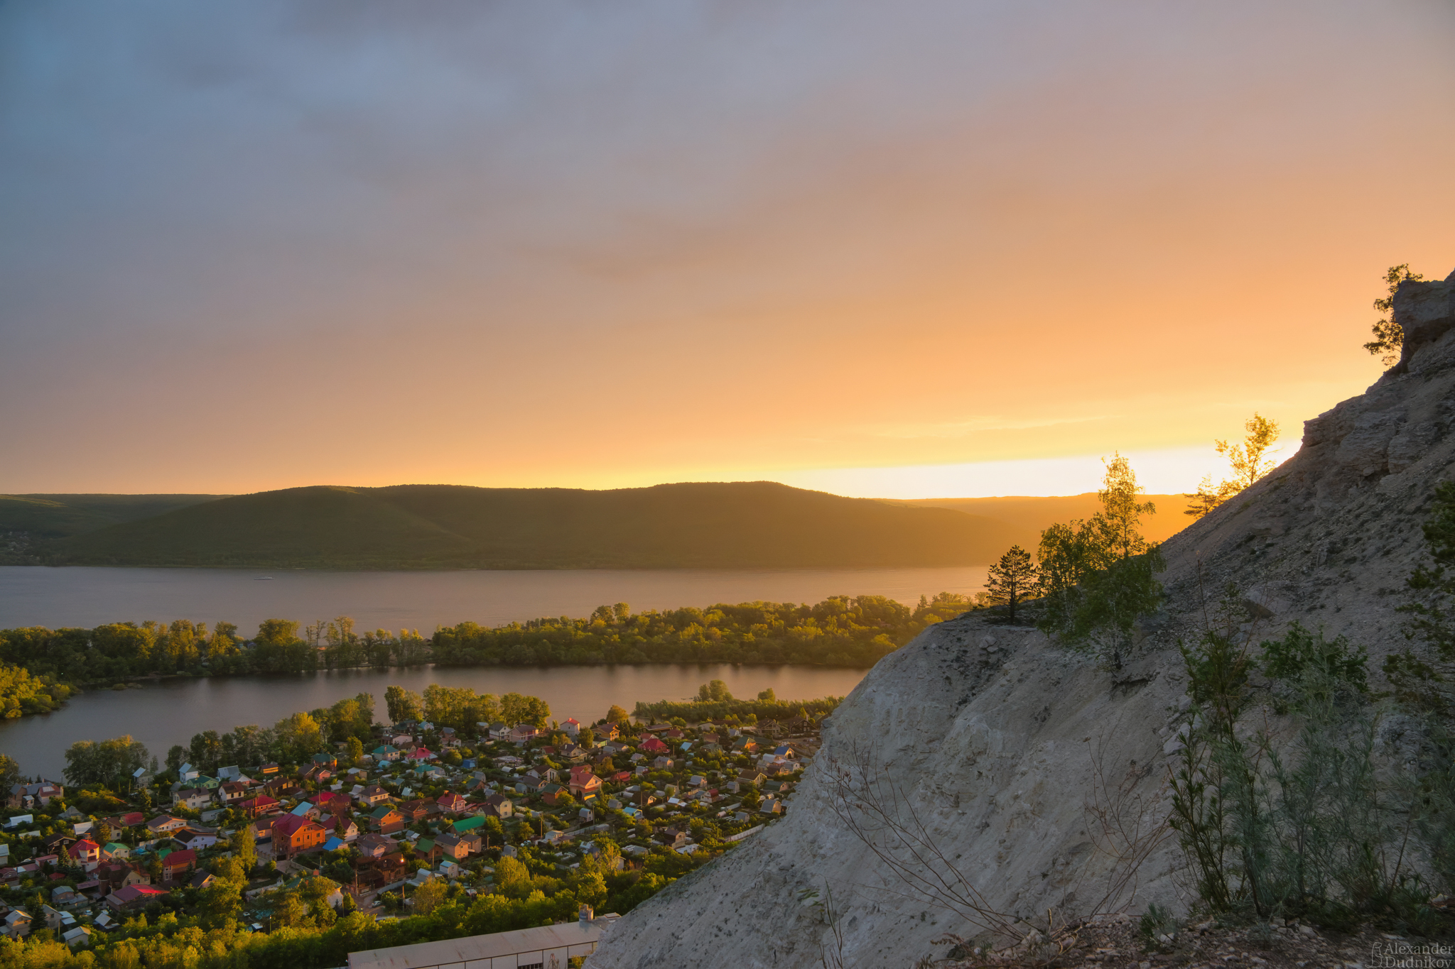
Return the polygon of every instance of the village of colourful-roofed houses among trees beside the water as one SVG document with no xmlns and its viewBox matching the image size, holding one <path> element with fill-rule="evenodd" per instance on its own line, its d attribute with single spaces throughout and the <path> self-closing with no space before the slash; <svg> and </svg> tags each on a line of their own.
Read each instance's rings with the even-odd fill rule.
<svg viewBox="0 0 1455 969">
<path fill-rule="evenodd" d="M 546 889 L 588 859 L 668 875 L 615 899 L 627 908 L 781 818 L 819 725 L 567 719 L 461 735 L 406 721 L 375 725 L 374 741 L 352 761 L 340 742 L 300 764 L 143 769 L 121 796 L 16 784 L 0 828 L 0 931 L 80 950 L 147 918 L 196 915 L 234 857 L 247 879 L 230 909 L 240 931 L 292 924 L 298 896 L 380 923 L 428 914 L 442 898 L 505 891 L 502 867 Z"/>
</svg>

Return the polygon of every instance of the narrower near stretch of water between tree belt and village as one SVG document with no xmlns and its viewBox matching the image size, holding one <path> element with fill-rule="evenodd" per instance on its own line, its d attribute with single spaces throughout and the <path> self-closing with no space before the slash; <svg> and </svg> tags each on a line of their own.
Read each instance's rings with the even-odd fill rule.
<svg viewBox="0 0 1455 969">
<path fill-rule="evenodd" d="M 723 680 L 733 696 L 751 697 L 773 687 L 778 699 L 847 696 L 864 670 L 819 667 L 749 667 L 726 664 L 639 667 L 343 670 L 300 677 L 173 678 L 140 690 L 97 690 L 73 697 L 45 716 L 0 721 L 0 751 L 25 774 L 60 779 L 65 748 L 79 739 L 131 734 L 164 758 L 173 744 L 186 744 L 207 729 L 244 723 L 271 726 L 297 710 L 329 706 L 355 693 L 374 694 L 384 718 L 384 687 L 423 692 L 431 683 L 469 686 L 477 693 L 528 693 L 550 703 L 551 716 L 598 721 L 617 703 L 679 700 L 707 680 Z"/>
</svg>

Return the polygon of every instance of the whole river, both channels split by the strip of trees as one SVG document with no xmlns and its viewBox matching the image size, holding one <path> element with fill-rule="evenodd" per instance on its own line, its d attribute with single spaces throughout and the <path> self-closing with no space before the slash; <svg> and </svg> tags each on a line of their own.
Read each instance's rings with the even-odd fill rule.
<svg viewBox="0 0 1455 969">
<path fill-rule="evenodd" d="M 269 577 L 269 578 L 265 578 Z M 940 591 L 976 593 L 985 567 L 742 571 L 458 571 L 303 572 L 249 569 L 0 568 L 0 629 L 96 626 L 118 620 L 227 620 L 250 632 L 268 617 L 313 622 L 352 616 L 358 629 L 419 629 L 474 620 L 495 626 L 540 616 L 586 616 L 601 604 L 633 610 L 739 601 L 806 601 L 889 596 L 906 604 Z M 684 699 L 707 680 L 733 696 L 773 687 L 780 699 L 844 696 L 863 670 L 746 665 L 639 665 L 442 670 L 356 670 L 303 677 L 169 680 L 140 690 L 83 693 L 57 713 L 0 721 L 0 751 L 22 773 L 58 777 L 79 739 L 131 734 L 157 757 L 199 731 L 272 725 L 297 710 L 359 692 L 384 715 L 384 687 L 431 683 L 482 693 L 528 693 L 557 719 L 595 721 L 613 703 Z"/>
</svg>

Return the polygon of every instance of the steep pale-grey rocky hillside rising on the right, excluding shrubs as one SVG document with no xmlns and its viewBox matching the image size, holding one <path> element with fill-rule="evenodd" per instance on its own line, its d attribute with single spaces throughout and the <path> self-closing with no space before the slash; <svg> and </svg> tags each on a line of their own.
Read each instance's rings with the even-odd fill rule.
<svg viewBox="0 0 1455 969">
<path fill-rule="evenodd" d="M 1398 607 L 1410 601 L 1411 569 L 1432 562 L 1423 526 L 1436 487 L 1455 474 L 1452 292 L 1455 273 L 1443 282 L 1401 286 L 1395 295 L 1395 321 L 1404 330 L 1400 363 L 1366 394 L 1307 421 L 1298 453 L 1167 543 L 1161 577 L 1167 600 L 1139 623 L 1142 639 L 1125 668 L 1107 670 L 1035 629 L 994 625 L 985 613 L 931 626 L 885 657 L 828 718 L 824 745 L 781 822 L 634 908 L 613 925 L 589 965 L 912 966 L 950 965 L 941 962 L 947 954 L 954 965 L 972 965 L 960 962 L 968 954 L 963 947 L 947 952 L 950 933 L 1001 946 L 1048 912 L 1061 930 L 1058 943 L 1069 950 L 1059 959 L 1053 946 L 1035 949 L 1032 934 L 1024 949 L 973 965 L 1138 965 L 1144 959 L 1144 966 L 1151 960 L 1222 965 L 1231 959 L 1227 953 L 1213 957 L 1200 928 L 1168 930 L 1176 938 L 1167 949 L 1176 950 L 1157 954 L 1135 949 L 1091 953 L 1088 940 L 1071 930 L 1084 924 L 1083 917 L 1128 920 L 1112 912 L 1128 912 L 1135 924 L 1136 914 L 1154 902 L 1184 917 L 1196 898 L 1199 876 L 1165 821 L 1174 771 L 1187 771 L 1184 777 L 1212 771 L 1189 769 L 1193 757 L 1206 755 L 1200 763 L 1209 764 L 1211 755 L 1189 754 L 1183 742 L 1202 718 L 1192 713 L 1195 697 L 1187 692 L 1189 665 L 1180 646 L 1200 641 L 1209 622 L 1205 599 L 1229 587 L 1238 591 L 1238 599 L 1228 600 L 1234 607 L 1229 629 L 1245 631 L 1235 642 L 1291 635 L 1295 622 L 1317 631 L 1321 644 L 1347 636 L 1350 648 L 1368 649 L 1375 696 L 1392 696 L 1382 661 L 1411 645 Z M 1424 676 L 1439 683 L 1432 693 L 1448 687 L 1440 673 Z M 1267 690 L 1260 683 L 1250 694 L 1254 699 L 1240 731 L 1247 725 L 1250 735 L 1272 738 L 1283 763 L 1307 763 L 1317 750 L 1307 734 L 1299 738 L 1307 723 L 1279 709 Z M 1353 764 L 1372 763 L 1371 777 L 1403 779 L 1413 776 L 1416 764 L 1448 757 L 1448 748 L 1429 742 L 1419 716 L 1400 710 L 1378 722 L 1360 721 L 1372 716 L 1369 708 L 1350 708 L 1340 713 L 1349 719 L 1334 721 L 1339 728 L 1330 731 L 1347 739 L 1323 750 L 1353 753 L 1296 790 L 1317 783 L 1314 796 L 1324 799 L 1337 784 L 1349 784 L 1343 777 Z M 1366 748 L 1359 747 L 1362 738 L 1368 738 Z M 1372 751 L 1372 761 L 1360 761 L 1363 750 Z M 1273 787 L 1269 780 L 1267 790 Z M 1358 790 L 1371 790 L 1365 800 L 1381 805 L 1379 812 L 1414 815 L 1398 795 L 1385 802 L 1378 787 Z M 1275 803 L 1272 793 L 1266 796 L 1260 792 L 1247 803 L 1261 811 Z M 1333 812 L 1340 802 L 1318 803 Z M 1343 827 L 1343 816 L 1318 824 L 1327 824 L 1321 831 L 1368 831 Z M 1227 837 L 1228 830 L 1205 828 L 1215 837 Z M 1378 854 L 1379 860 L 1360 869 L 1369 879 L 1360 886 L 1392 882 L 1400 864 L 1419 870 L 1406 875 L 1406 883 L 1440 877 L 1426 872 L 1439 872 L 1436 864 L 1448 860 L 1438 860 L 1435 848 L 1417 859 L 1408 831 L 1390 822 L 1375 835 L 1333 835 L 1324 844 L 1333 856 L 1336 844 L 1349 850 L 1355 837 L 1371 838 L 1360 848 L 1372 848 L 1359 857 Z M 1288 851 L 1286 841 L 1260 837 L 1267 837 L 1261 844 L 1279 846 L 1270 853 Z M 1228 844 L 1237 844 L 1237 835 Z M 1216 851 L 1228 863 L 1234 850 Z M 1442 882 L 1426 882 L 1432 885 Z M 1253 923 L 1245 883 L 1240 891 L 1247 908 L 1237 918 Z M 1334 895 L 1342 886 L 1315 891 Z M 822 904 L 810 904 L 816 898 Z M 1337 959 L 1314 959 L 1312 946 L 1323 944 L 1323 933 L 1308 923 L 1320 915 L 1307 901 L 1296 904 L 1305 927 L 1280 928 L 1282 941 L 1270 930 L 1254 962 L 1359 965 L 1352 949 Z M 1336 911 L 1330 902 L 1320 904 Z M 1337 925 L 1355 923 L 1358 909 L 1340 902 L 1337 911 L 1343 920 Z M 1199 918 L 1206 917 L 1203 909 Z M 1408 925 L 1382 931 L 1407 933 Z M 992 930 L 1001 928 L 997 937 Z M 1330 938 L 1339 936 L 1330 933 Z"/>
</svg>

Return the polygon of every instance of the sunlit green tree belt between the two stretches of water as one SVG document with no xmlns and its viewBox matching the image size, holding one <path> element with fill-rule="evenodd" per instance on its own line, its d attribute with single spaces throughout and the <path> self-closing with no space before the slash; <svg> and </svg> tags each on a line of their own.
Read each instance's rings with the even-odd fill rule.
<svg viewBox="0 0 1455 969">
<path fill-rule="evenodd" d="M 112 684 L 143 676 L 300 674 L 317 670 L 573 665 L 607 662 L 764 662 L 867 668 L 925 626 L 975 607 L 953 593 L 909 609 L 883 596 L 832 596 L 808 606 L 739 603 L 633 613 L 626 603 L 591 616 L 486 628 L 356 632 L 339 616 L 300 628 L 266 619 L 252 638 L 228 622 L 178 619 L 93 629 L 0 631 L 0 703 L 7 716 L 54 709 L 64 683 Z M 17 710 L 12 713 L 10 710 Z M 485 709 L 483 721 L 498 719 Z M 503 713 L 501 718 L 509 721 Z M 404 718 L 407 719 L 407 718 Z M 531 716 L 521 718 L 524 721 Z"/>
</svg>

